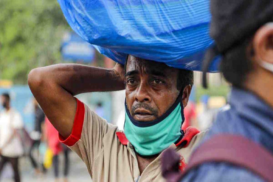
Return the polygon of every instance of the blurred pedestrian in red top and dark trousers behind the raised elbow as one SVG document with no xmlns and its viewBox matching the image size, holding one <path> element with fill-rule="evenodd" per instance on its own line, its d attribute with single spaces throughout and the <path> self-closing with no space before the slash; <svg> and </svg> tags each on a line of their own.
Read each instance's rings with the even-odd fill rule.
<svg viewBox="0 0 273 182">
<path fill-rule="evenodd" d="M 53 169 L 55 181 L 59 181 L 59 154 L 63 151 L 64 154 L 64 182 L 67 182 L 69 173 L 69 148 L 59 141 L 58 131 L 52 126 L 47 117 L 45 117 L 45 139 L 48 147 L 53 152 Z"/>
</svg>

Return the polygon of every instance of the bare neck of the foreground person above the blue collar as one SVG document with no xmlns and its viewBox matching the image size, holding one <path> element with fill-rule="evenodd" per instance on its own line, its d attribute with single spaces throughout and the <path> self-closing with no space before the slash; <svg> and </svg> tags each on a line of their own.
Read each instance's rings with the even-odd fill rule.
<svg viewBox="0 0 273 182">
<path fill-rule="evenodd" d="M 257 94 L 271 108 L 273 108 L 273 76 L 271 72 L 257 68 L 251 73 L 245 82 L 246 89 Z"/>
</svg>

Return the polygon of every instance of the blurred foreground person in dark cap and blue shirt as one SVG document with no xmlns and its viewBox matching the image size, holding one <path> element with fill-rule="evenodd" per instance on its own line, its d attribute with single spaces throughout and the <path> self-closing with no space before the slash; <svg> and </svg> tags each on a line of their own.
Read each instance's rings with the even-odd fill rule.
<svg viewBox="0 0 273 182">
<path fill-rule="evenodd" d="M 221 54 L 230 107 L 217 115 L 182 181 L 272 181 L 273 1 L 212 0 L 211 13 L 216 47 L 206 60 Z"/>
</svg>

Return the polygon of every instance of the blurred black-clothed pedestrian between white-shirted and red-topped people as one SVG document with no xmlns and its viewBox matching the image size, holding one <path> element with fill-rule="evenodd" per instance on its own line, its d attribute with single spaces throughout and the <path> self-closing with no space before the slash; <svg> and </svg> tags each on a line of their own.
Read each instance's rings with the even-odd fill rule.
<svg viewBox="0 0 273 182">
<path fill-rule="evenodd" d="M 33 140 L 32 146 L 29 151 L 29 157 L 31 160 L 32 167 L 35 169 L 35 173 L 38 174 L 40 172 L 38 162 L 35 160 L 33 156 L 33 152 L 35 149 L 38 149 L 39 144 L 41 143 L 41 133 L 42 133 L 42 125 L 45 121 L 45 114 L 42 110 L 42 108 L 39 106 L 36 99 L 33 99 L 33 105 L 34 105 L 34 114 L 35 114 L 35 123 L 34 123 L 34 130 L 30 133 L 30 137 Z M 43 171 L 44 168 L 43 168 Z"/>
</svg>

